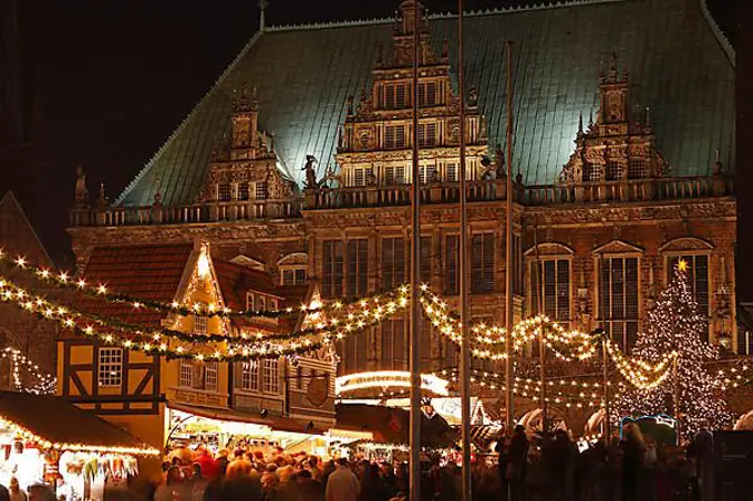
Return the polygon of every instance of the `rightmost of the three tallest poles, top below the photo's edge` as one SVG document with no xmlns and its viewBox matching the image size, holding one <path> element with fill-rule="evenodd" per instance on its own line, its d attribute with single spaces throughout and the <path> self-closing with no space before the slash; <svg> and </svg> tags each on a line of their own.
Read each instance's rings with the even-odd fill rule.
<svg viewBox="0 0 753 501">
<path fill-rule="evenodd" d="M 513 428 L 513 42 L 505 43 L 507 49 L 507 252 L 505 253 L 505 422 L 507 430 Z"/>
</svg>

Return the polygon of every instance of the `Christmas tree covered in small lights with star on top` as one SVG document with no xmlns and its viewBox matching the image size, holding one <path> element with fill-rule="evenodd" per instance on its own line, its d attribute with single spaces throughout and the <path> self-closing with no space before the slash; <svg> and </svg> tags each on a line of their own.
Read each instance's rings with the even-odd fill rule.
<svg viewBox="0 0 753 501">
<path fill-rule="evenodd" d="M 679 261 L 671 283 L 648 312 L 644 326 L 632 356 L 656 364 L 677 352 L 678 385 L 674 367 L 670 368 L 669 377 L 651 389 L 638 389 L 627 383 L 617 398 L 613 418 L 657 414 L 677 417 L 677 392 L 683 437 L 692 437 L 703 420 L 711 429 L 729 426 L 731 415 L 726 404 L 716 397 L 719 388 L 714 376 L 704 367 L 704 363 L 716 359 L 719 353 L 702 340 L 706 321 L 693 298 L 685 261 Z"/>
</svg>

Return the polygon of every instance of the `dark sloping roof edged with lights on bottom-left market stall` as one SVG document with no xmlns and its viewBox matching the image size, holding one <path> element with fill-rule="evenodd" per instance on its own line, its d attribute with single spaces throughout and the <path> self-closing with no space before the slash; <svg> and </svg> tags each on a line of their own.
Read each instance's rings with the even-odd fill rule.
<svg viewBox="0 0 753 501">
<path fill-rule="evenodd" d="M 0 392 L 0 426 L 42 448 L 159 455 L 127 431 L 59 397 Z"/>
</svg>

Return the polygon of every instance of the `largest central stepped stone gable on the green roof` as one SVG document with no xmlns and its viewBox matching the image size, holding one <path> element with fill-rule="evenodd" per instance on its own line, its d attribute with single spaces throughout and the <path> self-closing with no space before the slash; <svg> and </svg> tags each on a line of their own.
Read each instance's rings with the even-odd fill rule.
<svg viewBox="0 0 753 501">
<path fill-rule="evenodd" d="M 416 134 L 422 159 L 422 182 L 456 181 L 460 165 L 460 96 L 453 91 L 448 43 L 440 54 L 431 48 L 426 11 L 420 6 L 419 74 L 420 123 Z M 348 100 L 337 161 L 342 186 L 410 184 L 413 138 L 414 2 L 398 10 L 390 50 L 376 51 L 372 84 L 355 104 Z M 486 123 L 478 111 L 478 93 L 466 98 L 467 165 L 472 179 L 481 178 L 481 155 L 486 152 Z M 455 150 L 455 153 L 452 152 Z M 457 157 L 457 158 L 456 158 Z"/>
</svg>

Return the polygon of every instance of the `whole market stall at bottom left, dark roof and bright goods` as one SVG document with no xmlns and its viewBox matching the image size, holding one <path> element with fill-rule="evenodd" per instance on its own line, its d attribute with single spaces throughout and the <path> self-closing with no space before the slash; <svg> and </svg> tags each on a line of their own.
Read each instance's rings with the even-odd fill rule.
<svg viewBox="0 0 753 501">
<path fill-rule="evenodd" d="M 68 401 L 0 392 L 0 483 L 47 483 L 68 501 L 102 500 L 159 451 Z"/>
</svg>

